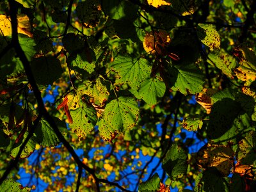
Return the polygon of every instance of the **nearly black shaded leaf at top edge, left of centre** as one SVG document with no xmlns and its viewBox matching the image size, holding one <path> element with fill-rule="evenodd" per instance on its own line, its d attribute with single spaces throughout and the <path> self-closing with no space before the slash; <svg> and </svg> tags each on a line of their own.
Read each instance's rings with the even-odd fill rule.
<svg viewBox="0 0 256 192">
<path fill-rule="evenodd" d="M 100 2 L 95 0 L 78 2 L 76 7 L 77 17 L 82 22 L 90 24 L 90 26 L 97 26 L 102 14 L 102 12 L 98 10 L 98 6 L 100 6 Z"/>
</svg>

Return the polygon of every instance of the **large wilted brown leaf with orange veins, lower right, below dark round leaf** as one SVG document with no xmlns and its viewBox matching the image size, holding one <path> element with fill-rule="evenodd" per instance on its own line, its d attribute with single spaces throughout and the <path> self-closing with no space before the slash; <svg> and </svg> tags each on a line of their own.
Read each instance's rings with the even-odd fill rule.
<svg viewBox="0 0 256 192">
<path fill-rule="evenodd" d="M 227 176 L 234 163 L 234 151 L 229 146 L 207 143 L 199 150 L 197 160 L 202 168 L 216 168 Z"/>
</svg>

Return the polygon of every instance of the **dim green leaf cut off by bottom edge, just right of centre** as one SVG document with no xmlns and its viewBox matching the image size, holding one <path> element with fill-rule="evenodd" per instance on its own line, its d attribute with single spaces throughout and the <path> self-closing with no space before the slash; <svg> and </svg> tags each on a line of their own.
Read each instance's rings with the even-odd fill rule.
<svg viewBox="0 0 256 192">
<path fill-rule="evenodd" d="M 155 173 L 150 179 L 146 182 L 141 182 L 139 185 L 140 192 L 148 192 L 148 191 L 159 191 L 160 189 L 160 182 L 159 176 Z"/>
</svg>

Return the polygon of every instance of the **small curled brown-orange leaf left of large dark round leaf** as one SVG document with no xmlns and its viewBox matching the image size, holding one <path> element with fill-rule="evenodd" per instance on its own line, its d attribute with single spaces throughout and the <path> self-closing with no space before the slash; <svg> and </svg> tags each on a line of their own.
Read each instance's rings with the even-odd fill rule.
<svg viewBox="0 0 256 192">
<path fill-rule="evenodd" d="M 196 102 L 198 102 L 198 104 L 200 104 L 206 110 L 207 114 L 211 113 L 211 108 L 213 105 L 211 97 L 216 92 L 216 89 L 204 88 L 202 92 L 196 94 Z"/>
</svg>

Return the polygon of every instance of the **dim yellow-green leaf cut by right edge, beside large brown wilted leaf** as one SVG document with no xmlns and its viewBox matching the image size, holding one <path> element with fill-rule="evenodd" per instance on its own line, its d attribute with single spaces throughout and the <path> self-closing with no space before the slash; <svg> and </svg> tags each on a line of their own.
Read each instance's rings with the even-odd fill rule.
<svg viewBox="0 0 256 192">
<path fill-rule="evenodd" d="M 239 148 L 237 150 L 236 159 L 242 164 L 253 164 L 256 159 L 256 133 L 250 131 L 245 134 L 243 140 L 239 141 Z"/>
</svg>

